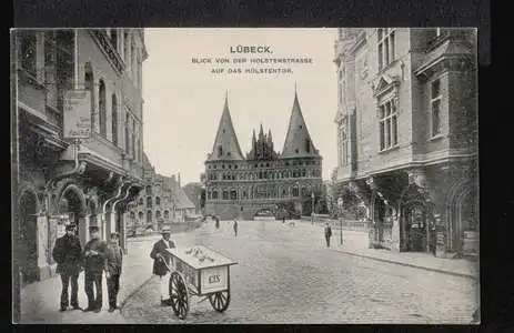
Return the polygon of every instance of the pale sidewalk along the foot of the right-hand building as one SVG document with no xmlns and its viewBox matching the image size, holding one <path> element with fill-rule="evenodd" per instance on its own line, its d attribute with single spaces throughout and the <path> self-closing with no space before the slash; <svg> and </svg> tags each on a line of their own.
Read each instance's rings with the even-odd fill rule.
<svg viewBox="0 0 514 333">
<path fill-rule="evenodd" d="M 367 233 L 360 231 L 343 230 L 343 245 L 341 245 L 339 230 L 334 230 L 333 233 L 333 249 L 342 253 L 476 280 L 480 276 L 478 262 L 465 259 L 435 258 L 432 253 L 424 252 L 369 249 Z"/>
</svg>

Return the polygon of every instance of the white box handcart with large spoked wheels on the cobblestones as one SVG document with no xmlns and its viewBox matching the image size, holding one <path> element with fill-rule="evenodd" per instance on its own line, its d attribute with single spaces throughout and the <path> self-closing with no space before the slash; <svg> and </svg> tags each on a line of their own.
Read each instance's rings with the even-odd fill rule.
<svg viewBox="0 0 514 333">
<path fill-rule="evenodd" d="M 190 296 L 209 299 L 212 307 L 223 312 L 230 304 L 230 266 L 236 262 L 203 245 L 167 249 L 172 255 L 169 292 L 173 312 L 188 316 Z"/>
</svg>

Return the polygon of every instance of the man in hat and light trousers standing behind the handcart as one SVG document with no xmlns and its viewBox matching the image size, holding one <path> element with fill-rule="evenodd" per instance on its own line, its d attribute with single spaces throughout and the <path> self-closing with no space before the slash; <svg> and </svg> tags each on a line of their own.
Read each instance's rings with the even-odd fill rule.
<svg viewBox="0 0 514 333">
<path fill-rule="evenodd" d="M 171 254 L 167 249 L 173 249 L 175 244 L 170 240 L 171 229 L 168 226 L 161 230 L 162 239 L 153 244 L 150 258 L 153 259 L 153 274 L 161 279 L 161 305 L 171 305 L 168 281 L 170 280 Z M 168 266 L 167 266 L 168 265 Z"/>
</svg>

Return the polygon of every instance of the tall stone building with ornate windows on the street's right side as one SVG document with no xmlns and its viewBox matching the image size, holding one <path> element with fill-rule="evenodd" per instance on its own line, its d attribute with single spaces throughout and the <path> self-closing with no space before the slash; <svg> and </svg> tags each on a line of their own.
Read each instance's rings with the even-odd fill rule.
<svg viewBox="0 0 514 333">
<path fill-rule="evenodd" d="M 370 246 L 477 250 L 474 29 L 339 29 L 334 179 Z"/>
</svg>

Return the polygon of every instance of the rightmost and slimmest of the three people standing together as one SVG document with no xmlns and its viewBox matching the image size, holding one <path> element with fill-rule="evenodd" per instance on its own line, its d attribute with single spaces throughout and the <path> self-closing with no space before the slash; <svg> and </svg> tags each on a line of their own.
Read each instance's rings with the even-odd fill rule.
<svg viewBox="0 0 514 333">
<path fill-rule="evenodd" d="M 109 295 L 109 312 L 113 312 L 118 306 L 118 292 L 120 291 L 121 266 L 123 264 L 123 249 L 119 244 L 120 234 L 111 233 L 111 241 L 107 248 L 105 255 L 105 278 L 107 291 Z"/>
</svg>

